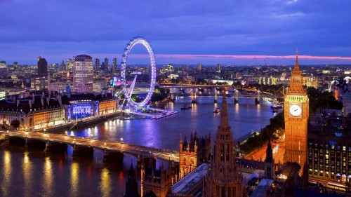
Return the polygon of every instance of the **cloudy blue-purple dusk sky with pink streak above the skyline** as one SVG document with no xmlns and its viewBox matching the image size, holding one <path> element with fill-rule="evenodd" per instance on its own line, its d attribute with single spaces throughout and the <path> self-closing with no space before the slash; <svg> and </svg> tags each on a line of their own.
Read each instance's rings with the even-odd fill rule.
<svg viewBox="0 0 351 197">
<path fill-rule="evenodd" d="M 351 64 L 350 12 L 347 0 L 0 0 L 0 60 L 121 62 L 144 36 L 157 64 L 294 64 L 296 48 L 300 64 Z"/>
</svg>

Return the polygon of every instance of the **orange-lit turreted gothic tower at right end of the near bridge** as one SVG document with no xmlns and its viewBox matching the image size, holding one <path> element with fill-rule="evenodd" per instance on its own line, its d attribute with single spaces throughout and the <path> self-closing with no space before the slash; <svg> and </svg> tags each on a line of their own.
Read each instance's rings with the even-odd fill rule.
<svg viewBox="0 0 351 197">
<path fill-rule="evenodd" d="M 208 156 L 211 154 L 211 135 L 197 137 L 197 132 L 190 135 L 189 142 L 187 137 L 179 140 L 179 179 L 183 177 L 201 163 L 208 163 Z"/>
</svg>

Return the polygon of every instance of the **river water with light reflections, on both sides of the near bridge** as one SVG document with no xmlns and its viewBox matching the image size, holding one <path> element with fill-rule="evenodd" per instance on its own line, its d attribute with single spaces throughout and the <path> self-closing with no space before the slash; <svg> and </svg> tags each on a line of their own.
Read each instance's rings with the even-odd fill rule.
<svg viewBox="0 0 351 197">
<path fill-rule="evenodd" d="M 178 114 L 159 120 L 114 119 L 79 130 L 68 130 L 67 135 L 95 137 L 101 140 L 124 141 L 161 149 L 179 149 L 179 138 L 197 132 L 198 136 L 211 133 L 214 137 L 220 121 L 220 107 L 213 97 L 197 97 L 192 109 L 190 97 L 177 97 L 166 109 Z M 270 103 L 261 100 L 256 105 L 253 98 L 227 98 L 228 114 L 232 133 L 237 139 L 251 131 L 260 130 L 274 116 Z M 62 133 L 65 133 L 62 131 Z M 189 139 L 189 138 L 188 138 Z M 72 157 L 72 148 L 67 154 L 45 153 L 42 150 L 0 147 L 0 196 L 122 196 L 125 191 L 126 173 L 135 166 L 136 158 L 124 156 L 123 163 L 102 163 L 102 153 L 94 151 L 93 158 Z"/>
</svg>

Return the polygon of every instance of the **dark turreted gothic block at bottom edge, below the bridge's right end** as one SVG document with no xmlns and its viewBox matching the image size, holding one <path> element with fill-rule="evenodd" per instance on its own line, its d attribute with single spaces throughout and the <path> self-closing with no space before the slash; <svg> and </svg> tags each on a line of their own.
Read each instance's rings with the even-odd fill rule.
<svg viewBox="0 0 351 197">
<path fill-rule="evenodd" d="M 140 196 L 166 197 L 171 193 L 171 184 L 171 172 L 164 168 L 163 163 L 159 170 L 156 170 L 151 158 L 149 165 L 141 164 Z"/>
</svg>

